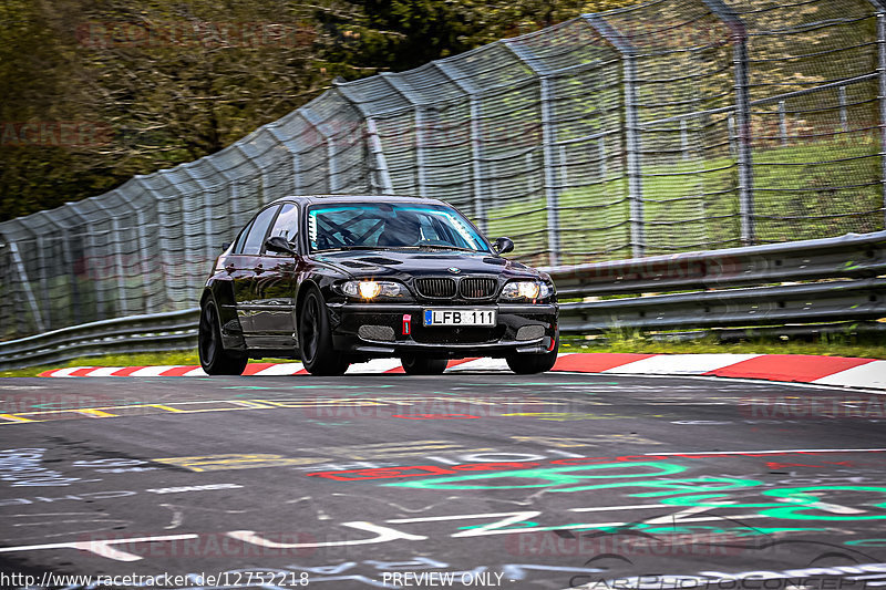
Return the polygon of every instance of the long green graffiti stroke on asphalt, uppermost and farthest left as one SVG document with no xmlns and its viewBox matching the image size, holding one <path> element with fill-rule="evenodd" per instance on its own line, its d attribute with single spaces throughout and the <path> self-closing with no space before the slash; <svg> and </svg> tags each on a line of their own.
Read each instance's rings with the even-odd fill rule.
<svg viewBox="0 0 886 590">
<path fill-rule="evenodd" d="M 617 474 L 601 474 L 601 475 L 571 475 L 574 473 L 590 472 L 597 469 L 621 469 L 633 467 L 648 467 L 658 469 L 657 472 L 640 472 L 640 473 L 617 473 Z M 418 489 L 524 489 L 534 487 L 549 487 L 562 486 L 566 484 L 580 484 L 585 479 L 615 479 L 625 477 L 658 477 L 662 475 L 673 475 L 684 472 L 687 468 L 682 465 L 672 463 L 660 462 L 637 462 L 637 463 L 599 463 L 594 465 L 579 465 L 569 467 L 553 467 L 545 469 L 514 469 L 511 472 L 496 472 L 490 474 L 471 474 L 471 475 L 456 475 L 452 477 L 433 477 L 430 479 L 422 479 L 420 482 L 398 482 L 395 484 L 384 484 L 391 487 L 411 487 Z M 537 484 L 515 485 L 505 483 L 503 485 L 466 485 L 465 482 L 482 482 L 490 479 L 540 479 Z M 650 487 L 664 487 L 656 486 L 656 482 L 649 482 Z M 630 485 L 639 485 L 631 483 L 619 483 L 604 485 L 601 487 L 627 487 Z M 595 486 L 587 486 L 576 489 L 590 489 Z M 569 488 L 574 490 L 574 488 Z M 568 490 L 554 490 L 554 491 L 568 491 Z"/>
</svg>

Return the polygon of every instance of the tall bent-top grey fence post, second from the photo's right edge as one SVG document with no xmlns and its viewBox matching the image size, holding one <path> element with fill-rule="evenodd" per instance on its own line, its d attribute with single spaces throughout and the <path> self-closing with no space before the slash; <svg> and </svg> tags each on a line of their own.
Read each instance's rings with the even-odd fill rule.
<svg viewBox="0 0 886 590">
<path fill-rule="evenodd" d="M 751 151 L 751 93 L 748 82 L 748 29 L 744 21 L 723 0 L 702 0 L 727 27 L 732 37 L 732 66 L 735 74 L 735 124 L 739 141 L 739 211 L 741 241 L 756 242 L 754 222 L 754 177 Z"/>
</svg>

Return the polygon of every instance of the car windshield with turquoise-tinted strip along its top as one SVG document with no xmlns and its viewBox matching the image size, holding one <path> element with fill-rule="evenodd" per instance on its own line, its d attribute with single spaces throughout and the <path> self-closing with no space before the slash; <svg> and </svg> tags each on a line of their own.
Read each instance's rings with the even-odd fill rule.
<svg viewBox="0 0 886 590">
<path fill-rule="evenodd" d="M 440 249 L 490 252 L 486 241 L 456 210 L 420 203 L 348 203 L 308 209 L 311 251 Z"/>
</svg>

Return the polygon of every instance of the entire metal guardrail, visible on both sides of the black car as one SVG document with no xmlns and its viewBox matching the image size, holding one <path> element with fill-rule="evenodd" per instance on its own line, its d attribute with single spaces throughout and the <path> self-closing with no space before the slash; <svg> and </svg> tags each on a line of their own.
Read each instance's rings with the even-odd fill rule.
<svg viewBox="0 0 886 590">
<path fill-rule="evenodd" d="M 833 322 L 886 318 L 886 231 L 544 270 L 562 300 L 584 299 L 562 303 L 566 334 L 772 325 L 825 333 L 841 329 Z M 133 315 L 0 342 L 0 370 L 193 349 L 198 315 Z"/>
</svg>

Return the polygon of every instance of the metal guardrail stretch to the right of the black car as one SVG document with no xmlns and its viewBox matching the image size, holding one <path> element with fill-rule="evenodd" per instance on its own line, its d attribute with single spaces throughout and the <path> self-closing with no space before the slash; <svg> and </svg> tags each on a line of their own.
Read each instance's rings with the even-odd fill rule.
<svg viewBox="0 0 886 590">
<path fill-rule="evenodd" d="M 886 279 L 877 278 L 886 275 L 886 231 L 548 271 L 560 299 L 584 298 L 560 306 L 564 333 L 886 317 Z M 635 297 L 600 299 L 626 294 Z"/>
</svg>

